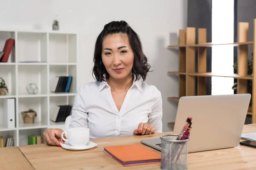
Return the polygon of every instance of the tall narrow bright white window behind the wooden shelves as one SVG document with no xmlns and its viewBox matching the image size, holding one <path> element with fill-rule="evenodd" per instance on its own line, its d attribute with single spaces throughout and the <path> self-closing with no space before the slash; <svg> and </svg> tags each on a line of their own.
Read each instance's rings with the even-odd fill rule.
<svg viewBox="0 0 256 170">
<path fill-rule="evenodd" d="M 212 0 L 212 42 L 234 42 L 234 0 Z M 212 47 L 212 73 L 230 75 L 233 70 L 233 45 Z M 234 78 L 212 77 L 212 95 L 234 94 Z"/>
</svg>

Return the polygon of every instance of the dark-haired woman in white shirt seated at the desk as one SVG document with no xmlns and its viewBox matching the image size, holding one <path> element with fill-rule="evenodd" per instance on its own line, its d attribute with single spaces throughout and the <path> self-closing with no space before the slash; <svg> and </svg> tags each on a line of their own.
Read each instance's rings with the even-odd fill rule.
<svg viewBox="0 0 256 170">
<path fill-rule="evenodd" d="M 104 26 L 93 62 L 96 81 L 77 91 L 70 128 L 89 127 L 91 139 L 162 132 L 161 93 L 144 82 L 150 65 L 139 36 L 125 21 Z M 47 129 L 44 140 L 60 146 L 62 132 Z"/>
</svg>

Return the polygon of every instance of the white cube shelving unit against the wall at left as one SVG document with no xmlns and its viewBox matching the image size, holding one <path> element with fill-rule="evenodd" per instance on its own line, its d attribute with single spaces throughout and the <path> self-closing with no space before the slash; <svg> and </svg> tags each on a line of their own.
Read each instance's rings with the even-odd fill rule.
<svg viewBox="0 0 256 170">
<path fill-rule="evenodd" d="M 9 38 L 15 46 L 8 62 L 0 62 L 0 77 L 6 81 L 9 93 L 0 96 L 0 136 L 13 136 L 14 146 L 28 144 L 28 135 L 43 136 L 47 128 L 64 129 L 64 122 L 50 120 L 55 105 L 73 105 L 78 90 L 78 35 L 60 31 L 0 30 L 0 48 Z M 0 50 L 2 51 L 2 49 Z M 29 61 L 29 62 L 28 62 Z M 69 93 L 52 93 L 56 76 L 72 76 Z M 28 94 L 26 86 L 35 83 L 37 94 Z M 3 103 L 15 98 L 15 128 L 3 125 Z M 24 124 L 21 112 L 30 108 L 37 112 L 34 124 Z"/>
</svg>

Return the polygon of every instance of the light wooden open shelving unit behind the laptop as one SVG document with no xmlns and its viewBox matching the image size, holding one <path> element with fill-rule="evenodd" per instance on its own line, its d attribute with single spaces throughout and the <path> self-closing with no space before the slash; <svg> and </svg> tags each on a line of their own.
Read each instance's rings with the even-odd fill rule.
<svg viewBox="0 0 256 170">
<path fill-rule="evenodd" d="M 179 48 L 179 71 L 169 71 L 179 77 L 179 96 L 168 97 L 169 100 L 179 101 L 182 96 L 206 95 L 206 77 L 233 77 L 238 82 L 238 94 L 247 93 L 247 80 L 253 80 L 252 105 L 248 108 L 248 115 L 252 115 L 252 123 L 256 123 L 256 19 L 253 23 L 253 41 L 248 41 L 249 23 L 239 23 L 238 42 L 212 43 L 207 42 L 205 28 L 187 27 L 179 30 L 179 45 L 169 45 L 168 48 Z M 196 44 L 196 31 L 198 43 Z M 207 48 L 215 45 L 232 45 L 238 47 L 238 74 L 220 75 L 207 72 Z M 253 45 L 253 73 L 247 74 L 248 45 Z M 195 51 L 198 56 L 195 56 Z M 198 72 L 195 71 L 195 59 L 198 59 Z M 195 77 L 197 80 L 197 94 L 195 94 Z"/>
</svg>

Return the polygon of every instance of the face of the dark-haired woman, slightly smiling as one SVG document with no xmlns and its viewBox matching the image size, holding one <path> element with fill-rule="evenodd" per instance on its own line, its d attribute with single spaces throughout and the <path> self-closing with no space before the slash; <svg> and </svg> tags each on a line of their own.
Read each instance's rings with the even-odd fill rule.
<svg viewBox="0 0 256 170">
<path fill-rule="evenodd" d="M 108 74 L 115 79 L 131 75 L 134 53 L 126 34 L 111 34 L 102 42 L 102 62 Z"/>
</svg>

